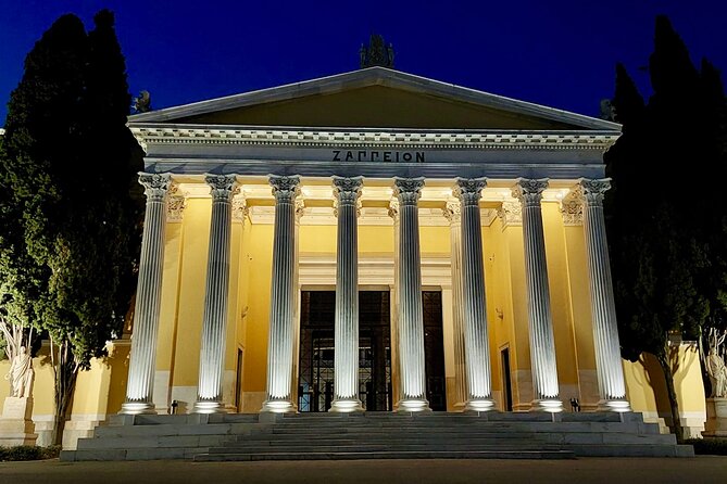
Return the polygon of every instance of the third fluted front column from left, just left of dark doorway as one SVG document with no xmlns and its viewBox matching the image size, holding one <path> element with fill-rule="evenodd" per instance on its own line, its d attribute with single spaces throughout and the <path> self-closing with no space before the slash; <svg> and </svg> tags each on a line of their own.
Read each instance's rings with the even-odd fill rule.
<svg viewBox="0 0 727 484">
<path fill-rule="evenodd" d="M 300 177 L 271 175 L 275 195 L 273 279 L 267 340 L 267 398 L 261 411 L 288 412 L 291 398 L 294 314 L 296 196 Z"/>
</svg>

